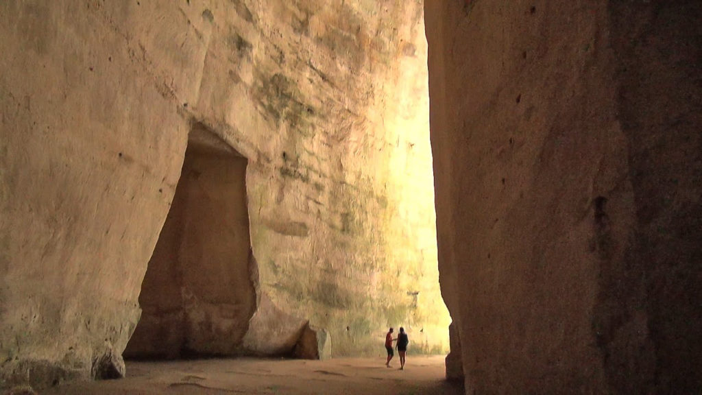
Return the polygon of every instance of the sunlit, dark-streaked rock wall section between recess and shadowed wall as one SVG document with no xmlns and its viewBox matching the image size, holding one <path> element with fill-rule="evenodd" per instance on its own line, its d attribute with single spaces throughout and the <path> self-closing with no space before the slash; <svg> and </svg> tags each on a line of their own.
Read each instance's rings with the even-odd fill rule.
<svg viewBox="0 0 702 395">
<path fill-rule="evenodd" d="M 260 292 L 329 330 L 336 356 L 382 353 L 388 325 L 411 330 L 416 351 L 445 349 L 421 4 L 209 9 L 213 39 L 189 110 L 251 160 Z M 270 328 L 256 324 L 263 316 L 254 338 Z"/>
</svg>

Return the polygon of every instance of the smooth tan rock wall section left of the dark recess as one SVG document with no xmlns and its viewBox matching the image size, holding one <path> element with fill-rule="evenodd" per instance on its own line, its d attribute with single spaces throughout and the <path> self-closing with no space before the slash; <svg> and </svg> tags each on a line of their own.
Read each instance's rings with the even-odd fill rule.
<svg viewBox="0 0 702 395">
<path fill-rule="evenodd" d="M 157 38 L 153 13 L 105 7 L 0 4 L 3 383 L 84 378 L 121 354 L 180 176 L 190 122 L 176 98 L 197 93 L 196 28 Z"/>
</svg>

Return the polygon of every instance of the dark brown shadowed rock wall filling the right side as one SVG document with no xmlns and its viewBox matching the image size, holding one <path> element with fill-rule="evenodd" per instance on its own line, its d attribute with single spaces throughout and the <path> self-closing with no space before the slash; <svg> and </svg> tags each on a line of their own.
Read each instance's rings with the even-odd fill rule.
<svg viewBox="0 0 702 395">
<path fill-rule="evenodd" d="M 701 18 L 698 1 L 425 4 L 468 394 L 702 390 Z"/>
</svg>

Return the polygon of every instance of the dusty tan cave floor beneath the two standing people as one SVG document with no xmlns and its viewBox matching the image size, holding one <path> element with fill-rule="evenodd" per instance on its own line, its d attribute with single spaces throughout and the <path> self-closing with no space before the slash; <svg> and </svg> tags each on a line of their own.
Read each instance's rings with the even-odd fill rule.
<svg viewBox="0 0 702 395">
<path fill-rule="evenodd" d="M 124 380 L 64 384 L 41 394 L 462 394 L 444 380 L 443 356 L 331 361 L 212 359 L 128 362 Z"/>
</svg>

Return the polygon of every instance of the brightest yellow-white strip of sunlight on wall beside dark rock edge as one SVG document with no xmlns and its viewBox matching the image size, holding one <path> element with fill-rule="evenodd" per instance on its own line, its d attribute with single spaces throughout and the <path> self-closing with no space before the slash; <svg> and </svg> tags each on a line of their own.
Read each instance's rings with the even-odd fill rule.
<svg viewBox="0 0 702 395">
<path fill-rule="evenodd" d="M 387 160 L 382 171 L 386 177 L 378 179 L 385 183 L 388 196 L 383 229 L 388 273 L 395 273 L 391 283 L 399 290 L 390 309 L 402 311 L 406 307 L 411 311 L 409 322 L 389 325 L 403 325 L 413 338 L 413 347 L 442 354 L 449 351 L 451 317 L 439 287 L 423 23 L 413 37 L 413 43 L 405 44 L 406 56 L 392 73 L 399 76 L 397 82 L 384 86 L 390 103 L 378 115 L 385 126 L 387 143 L 395 146 L 383 158 Z"/>
</svg>

